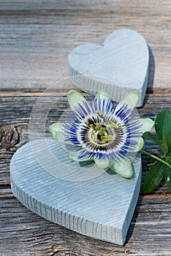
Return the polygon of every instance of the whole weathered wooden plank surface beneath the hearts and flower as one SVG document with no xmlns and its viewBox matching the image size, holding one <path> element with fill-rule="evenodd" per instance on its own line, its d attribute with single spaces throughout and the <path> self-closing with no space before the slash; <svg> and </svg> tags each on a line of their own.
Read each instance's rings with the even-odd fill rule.
<svg viewBox="0 0 171 256">
<path fill-rule="evenodd" d="M 12 154 L 28 141 L 28 120 L 37 97 L 56 85 L 60 97 L 47 127 L 68 108 L 67 56 L 77 45 L 97 43 L 115 29 L 140 32 L 150 48 L 148 90 L 140 116 L 171 109 L 171 1 L 0 1 L 0 255 L 171 255 L 171 194 L 164 184 L 140 194 L 126 244 L 81 236 L 22 206 L 10 189 Z M 50 95 L 45 92 L 44 97 Z M 69 110 L 68 110 L 69 111 Z M 47 134 L 47 136 L 50 136 Z M 145 149 L 161 154 L 146 140 Z M 151 160 L 142 157 L 142 178 Z"/>
</svg>

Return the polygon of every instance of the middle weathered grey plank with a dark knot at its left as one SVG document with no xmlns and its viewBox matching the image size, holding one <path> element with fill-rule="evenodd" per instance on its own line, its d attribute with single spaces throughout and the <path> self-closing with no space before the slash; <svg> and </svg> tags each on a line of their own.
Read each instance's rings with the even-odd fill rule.
<svg viewBox="0 0 171 256">
<path fill-rule="evenodd" d="M 150 118 L 155 118 L 159 111 L 164 109 L 171 109 L 171 94 L 146 94 L 145 105 L 143 108 L 139 108 L 138 111 L 140 116 L 147 116 Z M 38 97 L 44 95 L 46 102 L 51 102 L 53 97 L 56 97 L 56 103 L 50 110 L 47 116 L 46 129 L 50 124 L 56 122 L 61 114 L 66 111 L 66 116 L 70 116 L 71 110 L 66 100 L 66 91 L 61 90 L 60 92 L 47 92 L 47 94 L 42 94 L 41 92 L 30 92 L 30 93 L 18 93 L 18 92 L 1 92 L 0 104 L 0 134 L 1 134 L 1 146 L 0 146 L 0 159 L 1 159 L 1 170 L 0 184 L 9 184 L 9 162 L 12 157 L 13 152 L 15 152 L 20 146 L 28 141 L 28 121 L 31 115 L 31 110 L 34 103 Z M 87 96 L 87 94 L 83 94 Z M 161 105 L 162 102 L 162 105 Z M 43 114 L 43 109 L 40 111 Z M 65 117 L 62 119 L 65 121 Z M 18 132 L 18 140 L 15 138 L 15 133 Z M 15 140 L 12 138 L 15 138 Z M 47 138 L 51 135 L 47 132 Z M 145 140 L 145 149 L 147 151 L 153 152 L 153 154 L 161 154 L 159 152 L 159 147 L 150 140 Z M 147 163 L 149 163 L 148 157 L 142 157 L 142 170 L 147 170 Z M 142 177 L 145 172 L 142 172 Z M 161 187 L 161 191 L 166 191 L 166 188 Z"/>
</svg>

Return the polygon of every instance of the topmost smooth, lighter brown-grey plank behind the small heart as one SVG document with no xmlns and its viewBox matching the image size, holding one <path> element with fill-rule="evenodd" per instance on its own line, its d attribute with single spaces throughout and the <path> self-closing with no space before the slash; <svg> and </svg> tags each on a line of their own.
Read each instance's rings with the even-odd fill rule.
<svg viewBox="0 0 171 256">
<path fill-rule="evenodd" d="M 170 87 L 170 0 L 4 1 L 0 87 L 45 89 L 68 76 L 73 48 L 102 45 L 108 34 L 123 28 L 140 32 L 151 48 L 148 87 Z"/>
</svg>

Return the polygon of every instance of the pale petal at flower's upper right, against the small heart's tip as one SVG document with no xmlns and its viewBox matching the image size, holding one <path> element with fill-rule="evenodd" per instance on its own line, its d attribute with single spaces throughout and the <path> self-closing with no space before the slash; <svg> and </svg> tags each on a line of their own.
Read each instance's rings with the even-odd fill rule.
<svg viewBox="0 0 171 256">
<path fill-rule="evenodd" d="M 137 94 L 137 92 L 135 91 L 129 92 L 129 94 L 126 94 L 126 97 L 121 99 L 121 102 L 118 103 L 118 105 L 115 108 L 115 112 L 120 110 L 123 107 L 123 105 L 127 105 L 127 107 L 130 110 L 133 110 L 134 107 L 137 105 L 138 98 L 139 98 L 139 95 Z"/>
</svg>

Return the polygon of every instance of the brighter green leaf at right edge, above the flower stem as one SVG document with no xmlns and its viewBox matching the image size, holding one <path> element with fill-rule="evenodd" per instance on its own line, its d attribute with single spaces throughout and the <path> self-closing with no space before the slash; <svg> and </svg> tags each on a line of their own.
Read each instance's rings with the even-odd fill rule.
<svg viewBox="0 0 171 256">
<path fill-rule="evenodd" d="M 171 112 L 163 110 L 156 116 L 155 129 L 158 140 L 164 140 L 171 147 Z"/>
</svg>

